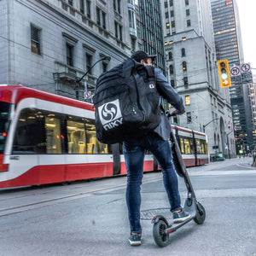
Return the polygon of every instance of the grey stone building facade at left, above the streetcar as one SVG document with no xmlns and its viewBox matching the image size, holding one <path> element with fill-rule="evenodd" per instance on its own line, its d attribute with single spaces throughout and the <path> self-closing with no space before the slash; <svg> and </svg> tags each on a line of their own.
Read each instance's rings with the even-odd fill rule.
<svg viewBox="0 0 256 256">
<path fill-rule="evenodd" d="M 0 84 L 75 97 L 139 47 L 134 0 L 0 1 Z M 100 61 L 104 57 L 111 59 Z"/>
</svg>

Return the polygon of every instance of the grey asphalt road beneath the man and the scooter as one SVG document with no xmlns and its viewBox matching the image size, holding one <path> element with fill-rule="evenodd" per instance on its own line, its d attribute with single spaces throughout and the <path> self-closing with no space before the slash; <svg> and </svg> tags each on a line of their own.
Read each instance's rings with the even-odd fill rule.
<svg viewBox="0 0 256 256">
<path fill-rule="evenodd" d="M 0 191 L 0 255 L 256 255 L 256 168 L 252 158 L 189 168 L 204 224 L 194 221 L 158 247 L 150 220 L 131 247 L 126 177 Z M 161 172 L 143 177 L 142 210 L 168 207 Z M 184 201 L 186 189 L 179 178 Z"/>
</svg>

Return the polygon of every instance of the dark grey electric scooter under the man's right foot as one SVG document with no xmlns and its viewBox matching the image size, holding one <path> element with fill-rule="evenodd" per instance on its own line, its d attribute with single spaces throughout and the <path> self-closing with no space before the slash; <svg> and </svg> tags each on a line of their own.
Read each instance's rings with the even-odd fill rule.
<svg viewBox="0 0 256 256">
<path fill-rule="evenodd" d="M 169 114 L 170 116 L 170 114 Z M 189 179 L 189 174 L 183 162 L 182 154 L 177 144 L 173 130 L 171 131 L 172 160 L 179 177 L 183 177 L 188 190 L 188 197 L 183 210 L 190 213 L 190 218 L 179 224 L 169 224 L 163 215 L 155 215 L 152 219 L 154 241 L 159 247 L 166 247 L 169 244 L 169 235 L 181 228 L 184 224 L 194 220 L 196 224 L 203 224 L 206 218 L 205 208 L 195 198 L 195 191 Z"/>
</svg>

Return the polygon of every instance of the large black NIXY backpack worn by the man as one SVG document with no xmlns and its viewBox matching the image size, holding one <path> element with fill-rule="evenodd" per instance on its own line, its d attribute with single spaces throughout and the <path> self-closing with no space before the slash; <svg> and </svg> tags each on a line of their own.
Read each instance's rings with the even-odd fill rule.
<svg viewBox="0 0 256 256">
<path fill-rule="evenodd" d="M 160 95 L 154 67 L 127 59 L 97 79 L 93 103 L 96 137 L 102 143 L 122 143 L 160 124 Z"/>
</svg>

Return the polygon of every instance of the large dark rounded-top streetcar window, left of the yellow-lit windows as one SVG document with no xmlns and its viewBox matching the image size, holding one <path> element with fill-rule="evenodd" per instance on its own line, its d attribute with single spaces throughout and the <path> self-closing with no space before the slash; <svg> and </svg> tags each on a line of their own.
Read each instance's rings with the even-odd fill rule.
<svg viewBox="0 0 256 256">
<path fill-rule="evenodd" d="M 15 131 L 13 154 L 45 154 L 45 151 L 44 115 L 25 108 Z"/>
</svg>

